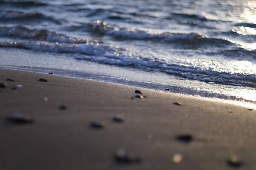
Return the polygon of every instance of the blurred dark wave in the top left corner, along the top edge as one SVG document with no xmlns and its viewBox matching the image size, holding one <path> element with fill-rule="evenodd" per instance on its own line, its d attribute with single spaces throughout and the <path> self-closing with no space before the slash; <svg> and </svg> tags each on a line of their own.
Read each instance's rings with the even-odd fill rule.
<svg viewBox="0 0 256 170">
<path fill-rule="evenodd" d="M 0 5 L 10 5 L 17 7 L 37 7 L 37 6 L 47 6 L 46 3 L 38 1 L 14 1 L 14 0 L 0 0 Z"/>
</svg>

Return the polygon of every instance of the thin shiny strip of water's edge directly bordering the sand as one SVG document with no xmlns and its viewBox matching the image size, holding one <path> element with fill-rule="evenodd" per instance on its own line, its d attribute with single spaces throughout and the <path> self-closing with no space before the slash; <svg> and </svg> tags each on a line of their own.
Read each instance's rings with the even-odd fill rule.
<svg viewBox="0 0 256 170">
<path fill-rule="evenodd" d="M 51 69 L 51 68 L 44 68 L 44 69 L 43 68 L 27 68 L 27 67 L 21 67 L 21 66 L 14 67 L 14 66 L 3 66 L 3 65 L 0 66 L 0 69 L 26 71 L 30 73 L 39 73 L 39 74 L 47 74 L 47 72 L 53 72 L 55 76 L 60 76 L 60 77 L 68 77 L 68 78 L 75 78 L 75 79 L 89 79 L 93 81 L 113 83 L 117 85 L 127 85 L 131 87 L 145 88 L 150 90 L 181 94 L 185 96 L 195 96 L 195 97 L 202 97 L 205 99 L 220 100 L 227 103 L 233 102 L 233 103 L 236 103 L 237 105 L 247 105 L 249 107 L 250 106 L 253 107 L 253 105 L 256 105 L 256 101 L 242 99 L 236 96 L 227 96 L 224 94 L 210 93 L 207 91 L 196 91 L 193 89 L 176 87 L 172 85 L 160 85 L 160 84 L 152 84 L 152 83 L 145 83 L 145 82 L 136 82 L 131 80 L 118 79 L 117 77 L 107 78 L 106 75 L 91 74 L 87 72 L 79 72 L 79 71 L 67 72 L 61 69 L 57 70 L 57 69 Z M 165 91 L 165 88 L 170 89 L 170 91 Z"/>
</svg>

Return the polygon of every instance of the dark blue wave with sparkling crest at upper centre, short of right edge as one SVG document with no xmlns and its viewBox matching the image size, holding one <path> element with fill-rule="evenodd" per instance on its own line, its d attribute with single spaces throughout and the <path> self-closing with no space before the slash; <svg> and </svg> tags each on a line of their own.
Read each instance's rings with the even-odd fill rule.
<svg viewBox="0 0 256 170">
<path fill-rule="evenodd" d="M 157 33 L 155 31 L 142 31 L 136 28 L 117 28 L 112 27 L 102 20 L 91 23 L 93 31 L 99 34 L 107 34 L 122 40 L 152 40 L 164 41 L 169 43 L 190 44 L 190 45 L 215 45 L 216 47 L 235 45 L 227 39 L 210 38 L 202 34 L 180 34 L 172 32 Z"/>
</svg>

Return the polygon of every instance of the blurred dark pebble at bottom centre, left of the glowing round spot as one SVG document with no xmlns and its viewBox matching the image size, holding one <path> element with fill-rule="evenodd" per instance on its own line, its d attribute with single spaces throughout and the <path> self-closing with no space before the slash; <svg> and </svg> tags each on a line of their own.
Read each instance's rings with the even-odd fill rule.
<svg viewBox="0 0 256 170">
<path fill-rule="evenodd" d="M 119 163 L 132 164 L 139 163 L 140 158 L 134 153 L 128 153 L 124 149 L 119 149 L 116 151 L 115 159 Z"/>
</svg>

